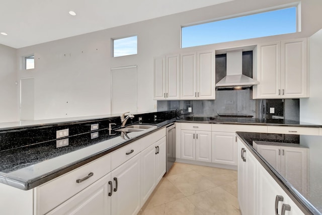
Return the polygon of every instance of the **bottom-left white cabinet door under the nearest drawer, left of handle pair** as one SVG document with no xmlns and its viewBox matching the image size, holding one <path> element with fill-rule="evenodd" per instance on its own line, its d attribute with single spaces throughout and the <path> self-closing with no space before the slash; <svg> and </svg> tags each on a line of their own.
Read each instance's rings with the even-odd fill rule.
<svg viewBox="0 0 322 215">
<path fill-rule="evenodd" d="M 111 174 L 96 181 L 46 214 L 111 214 Z M 113 195 L 113 192 L 112 192 Z"/>
</svg>

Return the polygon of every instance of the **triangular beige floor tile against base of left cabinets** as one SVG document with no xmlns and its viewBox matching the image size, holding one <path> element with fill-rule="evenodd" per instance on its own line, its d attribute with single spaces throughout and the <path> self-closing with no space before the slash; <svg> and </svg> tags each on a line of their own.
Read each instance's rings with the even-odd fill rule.
<svg viewBox="0 0 322 215">
<path fill-rule="evenodd" d="M 162 205 L 183 197 L 185 197 L 185 195 L 180 192 L 175 185 L 173 185 L 167 178 L 163 178 L 155 188 L 152 195 L 143 205 L 143 210 L 145 211 L 146 208 Z"/>
</svg>

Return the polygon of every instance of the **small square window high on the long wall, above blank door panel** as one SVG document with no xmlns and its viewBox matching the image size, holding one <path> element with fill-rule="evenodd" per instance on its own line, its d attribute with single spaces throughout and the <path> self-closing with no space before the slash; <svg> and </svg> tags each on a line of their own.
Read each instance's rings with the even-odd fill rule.
<svg viewBox="0 0 322 215">
<path fill-rule="evenodd" d="M 113 40 L 113 57 L 137 54 L 137 36 Z"/>
</svg>

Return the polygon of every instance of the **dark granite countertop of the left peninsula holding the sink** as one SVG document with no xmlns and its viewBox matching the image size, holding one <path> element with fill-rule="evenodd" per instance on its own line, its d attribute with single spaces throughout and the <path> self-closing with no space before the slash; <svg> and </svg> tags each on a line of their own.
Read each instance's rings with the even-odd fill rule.
<svg viewBox="0 0 322 215">
<path fill-rule="evenodd" d="M 0 151 L 0 183 L 29 190 L 77 167 L 107 155 L 162 128 L 174 120 L 159 122 L 156 128 L 122 133 L 102 129 L 69 136 L 68 146 L 56 148 L 56 140 Z M 91 133 L 98 132 L 97 138 Z"/>
</svg>

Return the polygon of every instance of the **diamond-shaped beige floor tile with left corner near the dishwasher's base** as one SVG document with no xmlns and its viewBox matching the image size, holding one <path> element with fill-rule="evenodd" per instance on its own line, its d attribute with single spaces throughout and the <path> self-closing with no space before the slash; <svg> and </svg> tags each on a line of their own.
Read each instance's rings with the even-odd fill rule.
<svg viewBox="0 0 322 215">
<path fill-rule="evenodd" d="M 189 196 L 217 185 L 194 170 L 167 177 L 185 196 Z"/>
</svg>

